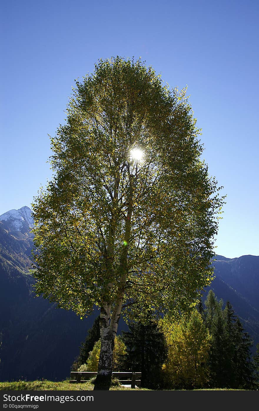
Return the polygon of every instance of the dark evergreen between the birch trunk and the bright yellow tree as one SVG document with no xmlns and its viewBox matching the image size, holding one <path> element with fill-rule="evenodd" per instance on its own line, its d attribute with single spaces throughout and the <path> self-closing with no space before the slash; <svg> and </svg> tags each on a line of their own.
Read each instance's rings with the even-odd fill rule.
<svg viewBox="0 0 259 411">
<path fill-rule="evenodd" d="M 129 323 L 129 331 L 122 332 L 127 347 L 125 369 L 141 371 L 141 386 L 160 388 L 161 367 L 166 358 L 166 341 L 157 323 Z"/>
</svg>

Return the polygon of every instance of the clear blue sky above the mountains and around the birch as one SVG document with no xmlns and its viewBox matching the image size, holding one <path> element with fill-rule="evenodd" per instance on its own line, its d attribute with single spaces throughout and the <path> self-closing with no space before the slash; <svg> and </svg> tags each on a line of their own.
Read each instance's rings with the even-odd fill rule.
<svg viewBox="0 0 259 411">
<path fill-rule="evenodd" d="M 259 1 L 8 0 L 1 12 L 0 214 L 51 178 L 48 134 L 99 58 L 139 58 L 188 85 L 203 157 L 227 194 L 216 253 L 259 255 Z"/>
</svg>

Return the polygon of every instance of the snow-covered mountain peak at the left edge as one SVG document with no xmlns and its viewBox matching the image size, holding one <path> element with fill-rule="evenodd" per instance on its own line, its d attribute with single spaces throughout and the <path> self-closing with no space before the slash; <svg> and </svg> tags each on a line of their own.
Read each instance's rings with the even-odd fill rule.
<svg viewBox="0 0 259 411">
<path fill-rule="evenodd" d="M 0 215 L 0 221 L 5 221 L 14 231 L 21 231 L 25 226 L 28 228 L 34 226 L 32 210 L 26 205 L 18 210 L 9 210 Z"/>
</svg>

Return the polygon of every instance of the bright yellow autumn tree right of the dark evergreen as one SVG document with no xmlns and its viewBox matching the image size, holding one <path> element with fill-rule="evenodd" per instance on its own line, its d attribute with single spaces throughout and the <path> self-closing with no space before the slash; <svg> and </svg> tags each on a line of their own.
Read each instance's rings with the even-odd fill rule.
<svg viewBox="0 0 259 411">
<path fill-rule="evenodd" d="M 208 356 L 211 343 L 202 316 L 194 309 L 179 321 L 163 320 L 168 358 L 163 365 L 168 388 L 201 388 L 209 381 Z"/>
</svg>

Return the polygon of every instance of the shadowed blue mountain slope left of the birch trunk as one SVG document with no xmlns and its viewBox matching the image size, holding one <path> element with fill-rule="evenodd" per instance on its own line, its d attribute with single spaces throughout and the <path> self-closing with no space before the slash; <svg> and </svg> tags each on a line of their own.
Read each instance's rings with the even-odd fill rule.
<svg viewBox="0 0 259 411">
<path fill-rule="evenodd" d="M 22 228 L 17 235 L 0 221 L 0 381 L 65 379 L 98 313 L 82 321 L 34 297 L 32 239 Z"/>
</svg>

